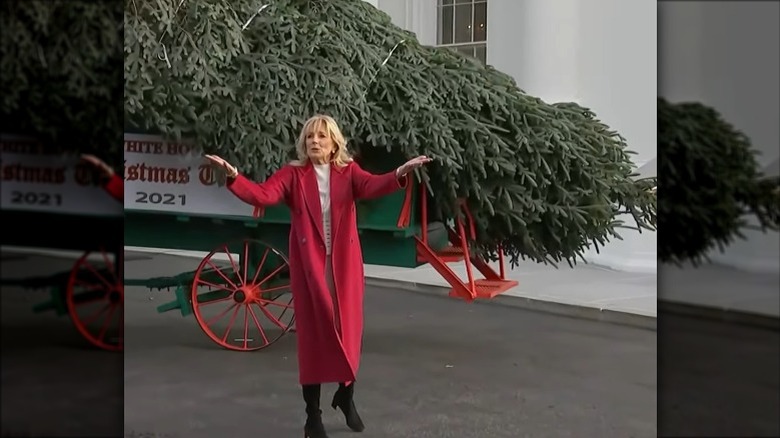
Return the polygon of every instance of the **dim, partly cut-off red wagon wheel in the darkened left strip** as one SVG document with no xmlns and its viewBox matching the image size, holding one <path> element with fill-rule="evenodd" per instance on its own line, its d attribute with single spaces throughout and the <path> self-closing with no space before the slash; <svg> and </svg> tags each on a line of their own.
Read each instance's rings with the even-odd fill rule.
<svg viewBox="0 0 780 438">
<path fill-rule="evenodd" d="M 90 260 L 94 255 L 95 260 Z M 87 251 L 68 278 L 65 302 L 76 330 L 92 345 L 108 351 L 124 348 L 125 290 L 122 255 Z"/>
</svg>

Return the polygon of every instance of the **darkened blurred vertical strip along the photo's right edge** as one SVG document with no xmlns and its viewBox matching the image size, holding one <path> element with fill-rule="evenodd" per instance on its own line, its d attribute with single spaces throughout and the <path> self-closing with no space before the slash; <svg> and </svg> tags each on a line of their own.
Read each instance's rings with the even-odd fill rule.
<svg viewBox="0 0 780 438">
<path fill-rule="evenodd" d="M 780 2 L 658 7 L 659 436 L 780 436 Z"/>
</svg>

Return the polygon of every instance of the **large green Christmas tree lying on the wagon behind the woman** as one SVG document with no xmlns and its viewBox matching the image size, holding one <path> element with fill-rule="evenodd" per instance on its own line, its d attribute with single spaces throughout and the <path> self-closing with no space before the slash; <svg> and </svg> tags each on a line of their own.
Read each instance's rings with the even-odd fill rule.
<svg viewBox="0 0 780 438">
<path fill-rule="evenodd" d="M 125 35 L 134 129 L 194 138 L 253 178 L 327 113 L 366 168 L 434 157 L 421 178 L 440 216 L 465 198 L 476 247 L 513 263 L 572 263 L 629 227 L 624 214 L 655 228 L 655 179 L 636 180 L 625 140 L 590 110 L 423 46 L 361 0 L 133 0 Z"/>
</svg>

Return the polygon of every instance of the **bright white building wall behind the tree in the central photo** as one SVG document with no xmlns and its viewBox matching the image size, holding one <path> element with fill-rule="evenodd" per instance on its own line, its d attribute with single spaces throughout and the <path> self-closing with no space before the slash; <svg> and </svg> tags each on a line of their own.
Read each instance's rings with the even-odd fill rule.
<svg viewBox="0 0 780 438">
<path fill-rule="evenodd" d="M 436 0 L 378 0 L 393 22 L 436 42 Z M 636 151 L 656 157 L 656 2 L 488 0 L 487 62 L 548 102 L 592 108 Z M 592 263 L 654 273 L 656 235 L 624 230 Z"/>
</svg>

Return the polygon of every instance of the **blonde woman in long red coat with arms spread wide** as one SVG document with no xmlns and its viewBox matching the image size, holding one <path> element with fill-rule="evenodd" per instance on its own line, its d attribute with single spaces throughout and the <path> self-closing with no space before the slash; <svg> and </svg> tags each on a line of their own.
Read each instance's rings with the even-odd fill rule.
<svg viewBox="0 0 780 438">
<path fill-rule="evenodd" d="M 303 126 L 298 159 L 263 183 L 253 183 L 220 157 L 206 155 L 228 177 L 227 187 L 253 206 L 285 203 L 291 213 L 290 287 L 295 305 L 299 380 L 306 403 L 307 438 L 326 438 L 320 385 L 339 383 L 331 406 L 350 429 L 363 422 L 353 401 L 363 338 L 363 255 L 355 201 L 406 187 L 409 173 L 428 162 L 420 156 L 382 175 L 361 169 L 347 152 L 336 121 L 316 115 Z"/>
</svg>

